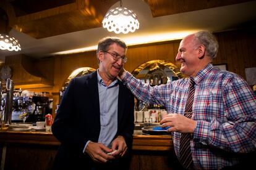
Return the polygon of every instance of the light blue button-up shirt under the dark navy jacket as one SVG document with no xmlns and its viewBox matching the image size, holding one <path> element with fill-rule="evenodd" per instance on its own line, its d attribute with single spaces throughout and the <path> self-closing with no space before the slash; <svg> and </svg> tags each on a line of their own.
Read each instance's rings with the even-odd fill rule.
<svg viewBox="0 0 256 170">
<path fill-rule="evenodd" d="M 117 132 L 117 104 L 119 86 L 117 79 L 107 87 L 98 71 L 98 90 L 100 97 L 100 136 L 98 142 L 111 148 Z"/>
</svg>

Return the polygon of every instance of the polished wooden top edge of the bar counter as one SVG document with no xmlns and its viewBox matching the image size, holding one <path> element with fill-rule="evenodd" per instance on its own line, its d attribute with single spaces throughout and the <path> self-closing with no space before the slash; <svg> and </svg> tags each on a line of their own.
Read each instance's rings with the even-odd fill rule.
<svg viewBox="0 0 256 170">
<path fill-rule="evenodd" d="M 40 145 L 60 144 L 51 132 L 41 131 L 0 131 L 0 142 Z M 156 151 L 173 150 L 173 140 L 171 136 L 145 136 L 140 131 L 135 131 L 132 149 Z"/>
</svg>

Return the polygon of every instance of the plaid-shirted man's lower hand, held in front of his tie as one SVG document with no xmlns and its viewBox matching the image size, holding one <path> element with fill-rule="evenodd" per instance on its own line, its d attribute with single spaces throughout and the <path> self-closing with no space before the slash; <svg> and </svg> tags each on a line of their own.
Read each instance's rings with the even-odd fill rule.
<svg viewBox="0 0 256 170">
<path fill-rule="evenodd" d="M 186 116 L 177 113 L 169 113 L 165 118 L 160 121 L 162 127 L 171 126 L 167 131 L 168 132 L 181 132 L 181 133 L 190 133 L 194 132 L 195 127 L 197 126 L 197 121 L 194 121 Z"/>
</svg>

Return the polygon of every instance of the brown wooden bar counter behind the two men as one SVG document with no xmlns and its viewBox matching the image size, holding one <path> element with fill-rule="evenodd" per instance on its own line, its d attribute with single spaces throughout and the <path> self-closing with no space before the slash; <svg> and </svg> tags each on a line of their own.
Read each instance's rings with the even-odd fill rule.
<svg viewBox="0 0 256 170">
<path fill-rule="evenodd" d="M 49 132 L 0 131 L 1 169 L 51 169 L 59 144 Z M 130 169 L 182 169 L 171 136 L 134 131 Z"/>
</svg>

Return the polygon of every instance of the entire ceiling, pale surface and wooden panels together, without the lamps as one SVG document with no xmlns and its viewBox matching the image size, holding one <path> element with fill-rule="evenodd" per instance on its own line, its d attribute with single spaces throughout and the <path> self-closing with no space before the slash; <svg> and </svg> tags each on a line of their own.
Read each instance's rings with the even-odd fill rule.
<svg viewBox="0 0 256 170">
<path fill-rule="evenodd" d="M 250 0 L 122 0 L 122 7 L 137 14 L 140 28 L 109 33 L 101 21 L 108 9 L 119 6 L 118 0 L 0 0 L 0 31 L 9 32 L 22 47 L 19 52 L 1 50 L 0 62 L 16 54 L 40 58 L 92 50 L 105 36 L 141 44 L 181 39 L 197 30 L 255 27 L 256 19 L 256 1 Z"/>
</svg>

